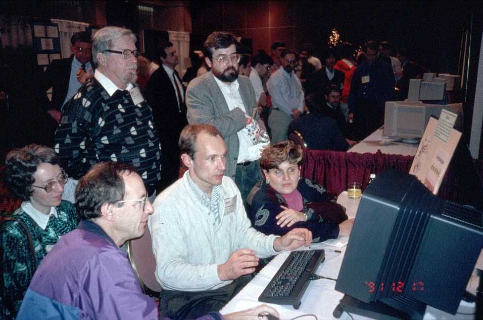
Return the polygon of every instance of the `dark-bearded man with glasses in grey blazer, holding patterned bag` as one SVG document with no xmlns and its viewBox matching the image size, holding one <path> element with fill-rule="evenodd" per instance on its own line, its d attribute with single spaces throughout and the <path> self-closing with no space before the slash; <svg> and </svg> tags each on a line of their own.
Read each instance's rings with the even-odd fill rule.
<svg viewBox="0 0 483 320">
<path fill-rule="evenodd" d="M 228 151 L 225 175 L 235 180 L 247 207 L 250 190 L 262 178 L 258 159 L 269 138 L 250 79 L 238 76 L 240 55 L 235 36 L 213 32 L 204 51 L 211 70 L 188 85 L 188 123 L 208 123 L 220 131 Z"/>
</svg>

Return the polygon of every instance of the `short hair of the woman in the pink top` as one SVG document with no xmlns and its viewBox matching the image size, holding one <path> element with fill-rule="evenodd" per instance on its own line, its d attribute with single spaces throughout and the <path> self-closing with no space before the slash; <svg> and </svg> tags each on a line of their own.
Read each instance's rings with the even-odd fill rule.
<svg viewBox="0 0 483 320">
<path fill-rule="evenodd" d="M 290 164 L 296 163 L 300 165 L 303 156 L 301 146 L 294 144 L 292 141 L 280 141 L 263 149 L 259 160 L 260 168 L 265 170 L 278 168 L 285 161 L 288 161 Z"/>
</svg>

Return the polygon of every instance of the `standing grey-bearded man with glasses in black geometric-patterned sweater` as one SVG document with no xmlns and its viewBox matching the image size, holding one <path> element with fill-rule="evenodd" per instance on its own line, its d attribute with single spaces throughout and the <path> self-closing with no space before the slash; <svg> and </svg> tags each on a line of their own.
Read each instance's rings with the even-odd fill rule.
<svg viewBox="0 0 483 320">
<path fill-rule="evenodd" d="M 104 27 L 95 33 L 92 58 L 98 68 L 64 106 L 54 149 L 73 179 L 102 161 L 133 165 L 154 200 L 161 179 L 161 145 L 151 108 L 135 84 L 135 42 L 135 35 L 124 28 Z"/>
</svg>

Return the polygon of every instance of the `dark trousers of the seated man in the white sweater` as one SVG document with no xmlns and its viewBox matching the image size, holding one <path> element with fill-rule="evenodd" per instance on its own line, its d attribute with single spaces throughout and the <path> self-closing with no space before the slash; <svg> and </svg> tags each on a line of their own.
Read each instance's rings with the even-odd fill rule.
<svg viewBox="0 0 483 320">
<path fill-rule="evenodd" d="M 159 311 L 163 317 L 173 320 L 196 319 L 211 311 L 219 311 L 240 290 L 245 287 L 252 276 L 244 276 L 222 288 L 207 291 L 161 291 Z"/>
</svg>

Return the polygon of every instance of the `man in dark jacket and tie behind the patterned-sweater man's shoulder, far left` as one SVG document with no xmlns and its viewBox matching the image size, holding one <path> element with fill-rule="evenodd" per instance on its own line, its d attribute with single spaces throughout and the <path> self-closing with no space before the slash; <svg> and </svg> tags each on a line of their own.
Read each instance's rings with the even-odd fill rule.
<svg viewBox="0 0 483 320">
<path fill-rule="evenodd" d="M 45 70 L 42 82 L 43 90 L 52 87 L 52 100 L 45 111 L 57 122 L 60 122 L 64 104 L 92 77 L 94 70 L 90 32 L 76 32 L 70 42 L 72 56 L 52 61 Z"/>
</svg>

